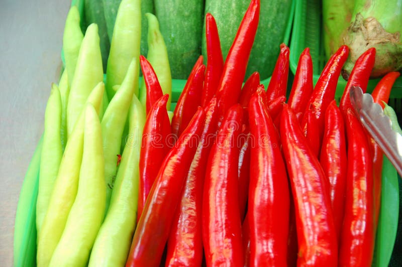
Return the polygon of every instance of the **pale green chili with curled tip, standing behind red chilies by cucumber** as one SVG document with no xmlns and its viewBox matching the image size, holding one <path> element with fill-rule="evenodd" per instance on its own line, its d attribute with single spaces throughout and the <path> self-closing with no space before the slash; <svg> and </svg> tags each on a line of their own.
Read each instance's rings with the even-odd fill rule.
<svg viewBox="0 0 402 267">
<path fill-rule="evenodd" d="M 172 100 L 172 76 L 170 74 L 169 59 L 167 56 L 167 48 L 163 36 L 159 30 L 159 22 L 155 15 L 145 14 L 148 20 L 148 55 L 147 60 L 151 63 L 160 86 L 162 87 L 163 94 L 169 94 L 169 99 L 166 103 L 167 110 L 170 110 L 170 103 Z M 145 87 L 145 80 L 142 80 L 140 101 L 145 106 L 147 89 Z"/>
</svg>

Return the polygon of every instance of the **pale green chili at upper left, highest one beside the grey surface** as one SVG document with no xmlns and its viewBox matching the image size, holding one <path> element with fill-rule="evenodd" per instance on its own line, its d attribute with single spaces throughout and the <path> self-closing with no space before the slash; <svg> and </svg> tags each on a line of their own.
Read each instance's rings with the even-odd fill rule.
<svg viewBox="0 0 402 267">
<path fill-rule="evenodd" d="M 68 12 L 63 34 L 63 53 L 65 68 L 68 71 L 68 84 L 71 86 L 77 64 L 78 52 L 84 38 L 79 26 L 80 18 L 78 8 L 72 6 Z"/>
</svg>

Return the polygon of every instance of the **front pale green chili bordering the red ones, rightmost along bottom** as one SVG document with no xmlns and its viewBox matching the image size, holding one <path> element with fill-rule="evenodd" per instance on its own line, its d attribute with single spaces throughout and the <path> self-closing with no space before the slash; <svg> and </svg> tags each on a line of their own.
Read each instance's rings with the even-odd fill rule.
<svg viewBox="0 0 402 267">
<path fill-rule="evenodd" d="M 129 116 L 128 142 L 117 173 L 110 208 L 96 236 L 89 266 L 124 266 L 130 250 L 136 226 L 138 164 L 145 123 L 145 110 L 135 95 Z"/>
</svg>

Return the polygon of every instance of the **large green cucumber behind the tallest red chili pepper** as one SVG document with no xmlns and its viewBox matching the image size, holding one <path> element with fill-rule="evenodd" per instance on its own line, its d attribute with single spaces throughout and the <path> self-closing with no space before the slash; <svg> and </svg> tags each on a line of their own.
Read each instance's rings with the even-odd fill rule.
<svg viewBox="0 0 402 267">
<path fill-rule="evenodd" d="M 279 54 L 279 45 L 283 42 L 287 22 L 291 11 L 291 0 L 261 0 L 260 21 L 251 50 L 245 77 L 253 72 L 260 73 L 261 80 L 272 75 L 276 59 Z M 236 36 L 244 13 L 249 6 L 248 0 L 206 0 L 205 14 L 211 13 L 218 26 L 221 47 L 224 59 L 229 52 Z M 205 40 L 205 23 L 203 28 L 202 51 L 207 58 Z"/>
</svg>

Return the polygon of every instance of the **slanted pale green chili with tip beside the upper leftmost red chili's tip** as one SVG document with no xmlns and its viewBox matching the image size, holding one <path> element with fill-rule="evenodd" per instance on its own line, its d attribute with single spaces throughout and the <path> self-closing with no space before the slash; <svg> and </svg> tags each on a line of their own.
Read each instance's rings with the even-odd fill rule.
<svg viewBox="0 0 402 267">
<path fill-rule="evenodd" d="M 135 88 L 138 87 L 138 74 L 138 59 L 132 59 L 126 77 L 109 103 L 101 123 L 105 149 L 106 213 L 116 178 L 116 155 L 120 154 L 124 125 Z"/>
</svg>

